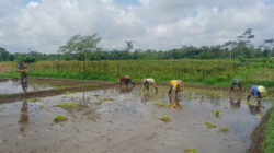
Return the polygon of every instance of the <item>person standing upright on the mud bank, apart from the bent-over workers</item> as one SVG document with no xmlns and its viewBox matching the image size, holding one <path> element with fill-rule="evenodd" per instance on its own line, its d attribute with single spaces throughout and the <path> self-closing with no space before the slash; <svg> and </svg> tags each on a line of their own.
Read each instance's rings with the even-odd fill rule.
<svg viewBox="0 0 274 153">
<path fill-rule="evenodd" d="M 19 63 L 18 72 L 20 72 L 21 85 L 23 87 L 23 91 L 26 92 L 26 90 L 27 90 L 27 72 L 28 72 L 28 67 L 25 66 L 24 61 L 21 61 Z"/>
</svg>

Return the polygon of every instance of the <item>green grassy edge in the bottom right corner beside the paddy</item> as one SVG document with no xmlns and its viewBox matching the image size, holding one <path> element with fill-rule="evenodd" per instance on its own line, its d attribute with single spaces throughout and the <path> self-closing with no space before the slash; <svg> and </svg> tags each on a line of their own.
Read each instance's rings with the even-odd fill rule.
<svg viewBox="0 0 274 153">
<path fill-rule="evenodd" d="M 264 126 L 262 151 L 264 153 L 273 153 L 274 151 L 274 102 L 272 104 L 272 110 L 270 118 Z"/>
</svg>

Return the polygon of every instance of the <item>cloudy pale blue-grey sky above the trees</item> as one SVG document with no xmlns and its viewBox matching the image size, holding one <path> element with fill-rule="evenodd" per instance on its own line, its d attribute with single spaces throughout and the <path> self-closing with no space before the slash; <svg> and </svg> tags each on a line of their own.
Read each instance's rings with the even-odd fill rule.
<svg viewBox="0 0 274 153">
<path fill-rule="evenodd" d="M 0 0 L 0 47 L 57 52 L 76 34 L 98 34 L 104 49 L 167 50 L 274 37 L 274 0 Z"/>
</svg>

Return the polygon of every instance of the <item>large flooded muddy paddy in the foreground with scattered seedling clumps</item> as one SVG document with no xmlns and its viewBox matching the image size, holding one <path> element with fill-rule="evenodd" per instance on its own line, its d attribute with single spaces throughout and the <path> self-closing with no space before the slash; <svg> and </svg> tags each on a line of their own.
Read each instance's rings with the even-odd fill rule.
<svg viewBox="0 0 274 153">
<path fill-rule="evenodd" d="M 242 153 L 249 136 L 271 107 L 247 105 L 246 95 L 184 89 L 179 97 L 134 89 L 113 87 L 0 105 L 0 152 L 83 153 Z M 77 102 L 78 107 L 55 105 Z M 155 103 L 171 104 L 158 107 Z M 210 110 L 221 109 L 219 117 Z M 56 115 L 68 118 L 53 123 Z M 170 122 L 156 117 L 169 116 Z M 216 125 L 208 129 L 204 122 Z M 219 127 L 228 126 L 228 132 Z"/>
</svg>

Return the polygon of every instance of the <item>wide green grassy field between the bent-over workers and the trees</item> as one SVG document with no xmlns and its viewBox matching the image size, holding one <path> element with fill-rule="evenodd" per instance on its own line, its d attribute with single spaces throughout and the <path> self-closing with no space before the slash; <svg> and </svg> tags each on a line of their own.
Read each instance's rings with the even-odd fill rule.
<svg viewBox="0 0 274 153">
<path fill-rule="evenodd" d="M 1 62 L 7 71 L 2 78 L 19 76 L 15 63 Z M 157 82 L 181 79 L 186 83 L 229 85 L 239 78 L 244 86 L 262 84 L 274 86 L 274 62 L 240 62 L 228 60 L 116 60 L 88 61 L 38 61 L 30 64 L 31 76 L 66 78 L 80 80 L 117 81 L 128 74 L 135 81 L 153 78 Z"/>
</svg>

